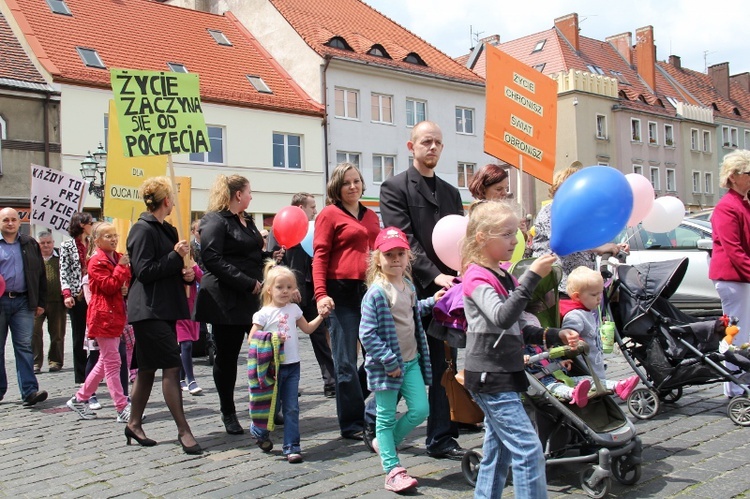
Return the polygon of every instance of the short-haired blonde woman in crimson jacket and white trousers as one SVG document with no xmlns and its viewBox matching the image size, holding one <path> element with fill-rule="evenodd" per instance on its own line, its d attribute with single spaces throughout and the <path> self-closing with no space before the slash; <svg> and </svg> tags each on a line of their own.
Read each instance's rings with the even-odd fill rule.
<svg viewBox="0 0 750 499">
<path fill-rule="evenodd" d="M 724 156 L 719 174 L 721 186 L 729 189 L 711 215 L 713 252 L 708 277 L 714 281 L 726 315 L 739 318 L 736 345 L 750 339 L 750 151 L 737 150 Z M 730 368 L 734 366 L 729 365 Z M 724 383 L 724 394 L 743 393 L 734 383 Z"/>
</svg>

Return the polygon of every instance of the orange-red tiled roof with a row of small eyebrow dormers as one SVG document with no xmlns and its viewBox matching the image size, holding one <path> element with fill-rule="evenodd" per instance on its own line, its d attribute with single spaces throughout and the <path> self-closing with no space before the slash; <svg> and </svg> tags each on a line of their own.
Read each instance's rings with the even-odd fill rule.
<svg viewBox="0 0 750 499">
<path fill-rule="evenodd" d="M 484 84 L 484 79 L 465 66 L 360 0 L 269 1 L 305 43 L 321 56 Z M 353 51 L 327 46 L 326 43 L 335 36 L 346 40 Z M 367 51 L 374 44 L 382 45 L 392 59 L 368 55 Z M 427 66 L 404 62 L 403 59 L 412 52 L 419 55 Z"/>
</svg>

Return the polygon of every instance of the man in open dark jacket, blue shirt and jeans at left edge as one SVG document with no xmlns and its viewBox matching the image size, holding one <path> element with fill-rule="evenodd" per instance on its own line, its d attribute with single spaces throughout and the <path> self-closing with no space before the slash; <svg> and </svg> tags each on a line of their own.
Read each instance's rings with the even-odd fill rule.
<svg viewBox="0 0 750 499">
<path fill-rule="evenodd" d="M 0 210 L 0 275 L 6 284 L 0 297 L 0 400 L 8 391 L 5 340 L 10 328 L 21 398 L 23 405 L 31 406 L 47 400 L 47 392 L 39 390 L 31 350 L 34 317 L 44 313 L 47 276 L 39 244 L 31 237 L 19 234 L 20 225 L 16 210 Z"/>
</svg>

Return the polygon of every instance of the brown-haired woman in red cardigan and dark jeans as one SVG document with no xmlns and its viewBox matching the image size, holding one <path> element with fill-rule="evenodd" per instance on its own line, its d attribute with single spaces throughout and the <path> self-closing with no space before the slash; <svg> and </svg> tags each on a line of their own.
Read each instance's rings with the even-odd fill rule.
<svg viewBox="0 0 750 499">
<path fill-rule="evenodd" d="M 360 306 L 366 291 L 370 250 L 380 232 L 378 216 L 359 199 L 365 192 L 362 174 L 341 163 L 328 182 L 328 206 L 315 220 L 313 284 L 318 312 L 331 315 L 331 351 L 336 370 L 336 412 L 341 436 L 361 440 L 364 428 L 364 371 L 357 372 Z"/>
</svg>

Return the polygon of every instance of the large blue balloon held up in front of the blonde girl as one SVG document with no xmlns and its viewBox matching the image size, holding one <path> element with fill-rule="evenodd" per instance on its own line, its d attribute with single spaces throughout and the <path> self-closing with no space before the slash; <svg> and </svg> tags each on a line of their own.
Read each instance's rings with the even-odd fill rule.
<svg viewBox="0 0 750 499">
<path fill-rule="evenodd" d="M 601 246 L 625 228 L 633 190 L 609 166 L 589 166 L 571 175 L 552 203 L 550 248 L 560 256 Z"/>
</svg>

